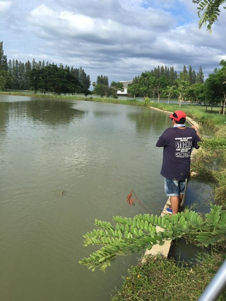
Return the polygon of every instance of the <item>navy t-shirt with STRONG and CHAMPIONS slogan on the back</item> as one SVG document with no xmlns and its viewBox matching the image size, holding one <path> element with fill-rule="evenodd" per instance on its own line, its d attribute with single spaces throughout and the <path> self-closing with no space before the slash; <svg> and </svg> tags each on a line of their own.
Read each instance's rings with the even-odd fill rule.
<svg viewBox="0 0 226 301">
<path fill-rule="evenodd" d="M 185 180 L 190 172 L 192 148 L 201 141 L 192 128 L 168 128 L 159 137 L 157 147 L 163 148 L 161 175 L 177 181 Z"/>
</svg>

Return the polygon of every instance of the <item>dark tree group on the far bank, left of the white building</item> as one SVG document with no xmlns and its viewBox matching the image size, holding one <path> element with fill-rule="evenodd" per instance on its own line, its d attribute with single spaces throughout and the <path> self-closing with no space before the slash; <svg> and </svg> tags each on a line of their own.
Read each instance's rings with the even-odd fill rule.
<svg viewBox="0 0 226 301">
<path fill-rule="evenodd" d="M 83 93 L 90 94 L 90 77 L 80 68 L 36 62 L 33 59 L 24 64 L 18 60 L 9 60 L 4 55 L 3 42 L 0 42 L 0 90 L 33 90 L 56 95 Z"/>
</svg>

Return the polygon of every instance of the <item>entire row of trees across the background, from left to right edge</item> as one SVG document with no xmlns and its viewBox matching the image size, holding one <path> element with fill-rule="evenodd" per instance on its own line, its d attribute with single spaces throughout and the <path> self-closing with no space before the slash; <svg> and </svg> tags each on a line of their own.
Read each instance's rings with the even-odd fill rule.
<svg viewBox="0 0 226 301">
<path fill-rule="evenodd" d="M 51 92 L 56 95 L 74 93 L 91 94 L 89 91 L 90 78 L 80 68 L 73 68 L 48 62 L 27 61 L 25 64 L 14 59 L 7 62 L 4 55 L 3 42 L 0 42 L 0 90 L 19 89 L 33 90 L 35 93 Z M 161 66 L 151 71 L 145 71 L 140 76 L 135 76 L 133 82 L 128 85 L 127 93 L 134 98 L 144 97 L 146 102 L 150 98 L 167 98 L 168 104 L 172 97 L 178 98 L 178 103 L 190 100 L 210 105 L 219 105 L 219 113 L 224 114 L 226 103 L 226 60 L 221 60 L 220 68 L 215 68 L 204 81 L 202 67 L 196 73 L 191 65 L 187 71 L 184 65 L 183 71 L 177 72 L 174 67 Z M 117 92 L 124 92 L 123 83 L 108 83 L 108 76 L 97 76 L 92 83 L 93 94 L 101 97 L 118 98 Z"/>
</svg>

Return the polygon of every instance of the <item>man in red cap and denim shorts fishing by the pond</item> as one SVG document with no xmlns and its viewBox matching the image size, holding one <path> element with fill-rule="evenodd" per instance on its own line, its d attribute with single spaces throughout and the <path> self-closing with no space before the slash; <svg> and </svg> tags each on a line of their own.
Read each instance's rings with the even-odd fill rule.
<svg viewBox="0 0 226 301">
<path fill-rule="evenodd" d="M 186 114 L 177 110 L 170 114 L 172 128 L 168 128 L 159 137 L 157 147 L 163 147 L 161 175 L 165 177 L 165 193 L 170 197 L 171 208 L 168 213 L 176 214 L 183 199 L 185 180 L 190 172 L 192 148 L 198 149 L 200 142 L 196 126 L 185 126 Z"/>
</svg>

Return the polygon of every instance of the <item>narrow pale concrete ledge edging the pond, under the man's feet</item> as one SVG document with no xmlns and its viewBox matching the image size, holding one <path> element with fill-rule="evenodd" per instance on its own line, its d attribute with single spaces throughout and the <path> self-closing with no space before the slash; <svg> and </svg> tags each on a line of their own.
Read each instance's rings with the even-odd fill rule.
<svg viewBox="0 0 226 301">
<path fill-rule="evenodd" d="M 149 107 L 151 109 L 154 109 L 154 110 L 157 110 L 157 111 L 161 111 L 161 112 L 165 112 L 165 113 L 168 113 L 168 114 L 172 114 L 173 112 L 169 112 L 169 111 L 165 111 L 165 110 L 160 110 L 160 109 L 157 109 L 157 108 L 154 108 L 154 107 Z M 186 121 L 188 121 L 191 125 L 194 125 L 194 126 L 197 126 L 197 128 L 199 129 L 199 125 L 198 123 L 196 123 L 193 119 L 191 119 L 190 117 L 187 117 L 186 116 Z M 196 149 L 194 148 L 193 151 L 192 151 L 192 154 L 193 155 L 194 153 L 196 152 Z M 186 195 L 186 189 L 187 189 L 187 179 L 186 179 L 186 184 L 185 184 L 185 194 L 184 194 L 184 197 L 183 197 L 183 200 L 181 202 L 181 205 L 184 204 L 184 199 L 185 199 L 185 195 Z M 170 204 L 170 197 L 168 197 L 168 200 L 166 201 L 165 203 L 165 206 L 164 206 L 164 209 L 162 211 L 162 214 L 161 216 L 165 216 L 166 214 L 168 214 L 168 212 L 165 210 L 167 207 L 171 207 L 171 204 Z M 156 232 L 159 232 L 159 231 L 162 231 L 163 229 L 161 227 L 156 227 Z M 165 241 L 165 244 L 163 246 L 159 246 L 159 244 L 156 244 L 154 245 L 151 250 L 146 250 L 146 252 L 144 253 L 144 256 L 141 260 L 141 262 L 145 262 L 145 256 L 146 255 L 152 255 L 152 256 L 155 256 L 157 255 L 158 253 L 162 254 L 164 257 L 167 257 L 168 256 L 168 253 L 169 253 L 169 250 L 170 250 L 170 247 L 171 247 L 171 240 L 166 240 Z"/>
</svg>

